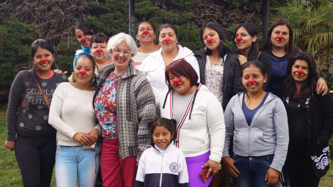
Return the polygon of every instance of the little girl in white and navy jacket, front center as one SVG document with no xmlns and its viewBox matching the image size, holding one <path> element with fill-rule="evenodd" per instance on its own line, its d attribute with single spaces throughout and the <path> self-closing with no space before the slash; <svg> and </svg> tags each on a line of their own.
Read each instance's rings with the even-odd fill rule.
<svg viewBox="0 0 333 187">
<path fill-rule="evenodd" d="M 176 121 L 158 118 L 150 127 L 154 141 L 141 156 L 135 187 L 188 187 L 186 161 L 173 145 Z"/>
</svg>

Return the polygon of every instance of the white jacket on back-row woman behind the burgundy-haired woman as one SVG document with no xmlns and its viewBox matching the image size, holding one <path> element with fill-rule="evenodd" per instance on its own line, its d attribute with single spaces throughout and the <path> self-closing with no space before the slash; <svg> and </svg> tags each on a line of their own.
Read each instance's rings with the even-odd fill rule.
<svg viewBox="0 0 333 187">
<path fill-rule="evenodd" d="M 177 45 L 177 47 L 178 54 L 172 61 L 184 58 L 194 68 L 198 74 L 198 82 L 200 82 L 199 64 L 192 51 L 187 47 L 181 47 L 180 45 Z M 145 73 L 149 83 L 151 83 L 155 98 L 158 98 L 162 91 L 167 90 L 165 76 L 166 65 L 163 61 L 162 48 L 151 53 L 142 62 L 139 70 Z"/>
</svg>

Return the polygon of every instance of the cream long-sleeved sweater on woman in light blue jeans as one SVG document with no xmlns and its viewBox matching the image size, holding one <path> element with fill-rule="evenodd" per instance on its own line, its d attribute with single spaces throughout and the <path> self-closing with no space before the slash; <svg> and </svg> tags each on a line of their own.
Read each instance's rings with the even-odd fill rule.
<svg viewBox="0 0 333 187">
<path fill-rule="evenodd" d="M 60 83 L 55 89 L 48 123 L 57 130 L 58 145 L 79 146 L 81 144 L 73 140 L 75 133 L 100 130 L 92 105 L 94 93 L 76 89 L 68 82 Z"/>
</svg>

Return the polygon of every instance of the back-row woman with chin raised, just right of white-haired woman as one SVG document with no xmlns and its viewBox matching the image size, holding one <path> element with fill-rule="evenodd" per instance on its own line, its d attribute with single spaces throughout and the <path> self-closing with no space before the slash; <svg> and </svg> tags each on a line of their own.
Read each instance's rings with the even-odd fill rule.
<svg viewBox="0 0 333 187">
<path fill-rule="evenodd" d="M 140 44 L 140 47 L 138 48 L 138 54 L 132 59 L 135 63 L 135 67 L 139 69 L 142 61 L 144 61 L 152 52 L 159 50 L 160 46 L 155 44 L 155 27 L 151 22 L 141 21 L 136 27 L 136 32 L 136 43 L 137 45 Z"/>
</svg>

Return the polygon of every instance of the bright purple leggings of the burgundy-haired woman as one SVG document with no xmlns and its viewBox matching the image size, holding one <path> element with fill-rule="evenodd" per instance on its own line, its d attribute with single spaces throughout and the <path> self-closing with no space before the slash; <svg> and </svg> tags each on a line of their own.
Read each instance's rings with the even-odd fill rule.
<svg viewBox="0 0 333 187">
<path fill-rule="evenodd" d="M 196 157 L 187 157 L 186 165 L 188 171 L 188 186 L 189 187 L 208 187 L 212 177 L 204 183 L 200 177 L 203 166 L 209 160 L 210 151 Z"/>
</svg>

